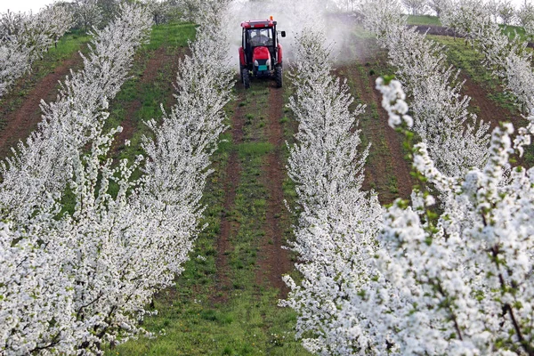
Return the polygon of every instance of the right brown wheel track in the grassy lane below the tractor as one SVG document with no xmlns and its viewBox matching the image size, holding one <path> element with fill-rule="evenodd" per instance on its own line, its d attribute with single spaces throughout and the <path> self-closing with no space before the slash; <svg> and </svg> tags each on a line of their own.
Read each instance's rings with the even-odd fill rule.
<svg viewBox="0 0 534 356">
<path fill-rule="evenodd" d="M 291 271 L 292 266 L 288 251 L 282 248 L 287 246 L 282 226 L 282 219 L 287 217 L 282 189 L 287 174 L 283 163 L 284 132 L 280 124 L 284 107 L 283 89 L 271 85 L 268 101 L 267 137 L 274 149 L 267 155 L 262 169 L 262 182 L 267 187 L 269 198 L 265 216 L 265 236 L 258 253 L 259 269 L 256 279 L 268 279 L 272 287 L 280 290 L 280 297 L 285 298 L 289 289 L 282 281 L 282 275 Z"/>
</svg>

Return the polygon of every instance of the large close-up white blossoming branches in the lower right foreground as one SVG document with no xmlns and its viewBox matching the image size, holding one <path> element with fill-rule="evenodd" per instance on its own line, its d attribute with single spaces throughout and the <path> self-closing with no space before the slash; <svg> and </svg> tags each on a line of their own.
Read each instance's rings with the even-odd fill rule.
<svg viewBox="0 0 534 356">
<path fill-rule="evenodd" d="M 533 189 L 522 167 L 503 182 L 513 131 L 496 128 L 486 165 L 454 179 L 414 148 L 417 171 L 451 199 L 435 218 L 401 201 L 385 214 L 381 271 L 410 301 L 388 327 L 401 354 L 530 354 Z"/>
</svg>

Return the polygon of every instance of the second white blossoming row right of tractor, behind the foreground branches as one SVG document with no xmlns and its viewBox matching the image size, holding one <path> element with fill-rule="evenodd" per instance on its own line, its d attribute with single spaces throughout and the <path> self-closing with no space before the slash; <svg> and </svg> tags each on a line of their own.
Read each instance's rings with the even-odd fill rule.
<svg viewBox="0 0 534 356">
<path fill-rule="evenodd" d="M 441 45 L 407 28 L 396 1 L 368 0 L 361 12 L 365 26 L 389 51 L 396 76 L 409 93 L 413 129 L 436 165 L 450 176 L 483 166 L 490 125 L 468 112 L 470 98 L 460 94 L 463 83 L 457 82 L 458 72 L 446 64 Z"/>
</svg>

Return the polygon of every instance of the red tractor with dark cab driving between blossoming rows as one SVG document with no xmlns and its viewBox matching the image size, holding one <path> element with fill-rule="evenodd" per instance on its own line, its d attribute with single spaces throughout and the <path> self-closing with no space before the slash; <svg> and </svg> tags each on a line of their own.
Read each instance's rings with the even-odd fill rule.
<svg viewBox="0 0 534 356">
<path fill-rule="evenodd" d="M 241 22 L 242 46 L 239 47 L 239 69 L 245 88 L 250 87 L 250 76 L 271 77 L 282 87 L 282 45 L 278 41 L 276 21 L 248 20 Z M 286 36 L 281 31 L 282 37 Z"/>
</svg>

